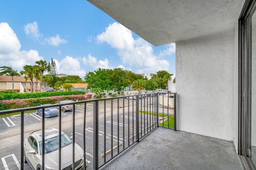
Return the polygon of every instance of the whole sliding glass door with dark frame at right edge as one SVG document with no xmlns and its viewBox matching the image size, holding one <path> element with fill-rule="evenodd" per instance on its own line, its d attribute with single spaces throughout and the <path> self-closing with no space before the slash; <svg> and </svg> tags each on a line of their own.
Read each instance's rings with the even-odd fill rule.
<svg viewBox="0 0 256 170">
<path fill-rule="evenodd" d="M 239 156 L 256 169 L 256 0 L 247 0 L 239 19 Z"/>
</svg>

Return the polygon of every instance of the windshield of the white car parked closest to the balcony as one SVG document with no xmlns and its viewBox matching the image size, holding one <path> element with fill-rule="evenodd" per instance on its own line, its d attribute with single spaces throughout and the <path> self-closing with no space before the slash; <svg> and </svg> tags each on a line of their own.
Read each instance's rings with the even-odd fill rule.
<svg viewBox="0 0 256 170">
<path fill-rule="evenodd" d="M 72 144 L 72 140 L 66 135 L 61 135 L 61 148 Z M 48 154 L 50 152 L 54 152 L 59 149 L 59 136 L 54 136 L 52 138 L 48 138 L 44 140 L 44 154 Z M 40 150 L 42 153 L 42 141 L 40 141 Z"/>
</svg>

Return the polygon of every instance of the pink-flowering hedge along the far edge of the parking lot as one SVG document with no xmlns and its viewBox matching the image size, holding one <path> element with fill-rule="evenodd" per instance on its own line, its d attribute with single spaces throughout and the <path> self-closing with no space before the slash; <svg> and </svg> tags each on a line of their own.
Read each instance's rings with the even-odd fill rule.
<svg viewBox="0 0 256 170">
<path fill-rule="evenodd" d="M 0 101 L 0 110 L 18 109 L 24 107 L 33 107 L 43 104 L 56 104 L 62 100 L 72 101 L 84 101 L 92 99 L 92 94 L 86 95 L 68 95 L 68 96 L 53 96 L 53 97 L 41 97 L 41 98 L 30 98 L 30 99 L 10 99 Z"/>
</svg>

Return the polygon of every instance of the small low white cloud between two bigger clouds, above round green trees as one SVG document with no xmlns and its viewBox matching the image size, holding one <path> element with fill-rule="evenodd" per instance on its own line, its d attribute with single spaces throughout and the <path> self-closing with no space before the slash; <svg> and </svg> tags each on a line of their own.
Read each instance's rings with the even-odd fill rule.
<svg viewBox="0 0 256 170">
<path fill-rule="evenodd" d="M 112 69 L 109 65 L 108 59 L 104 60 L 97 60 L 96 57 L 92 56 L 91 54 L 88 55 L 88 57 L 83 57 L 82 62 L 84 65 L 88 65 L 92 67 L 93 69 L 103 68 L 103 69 Z"/>
</svg>

